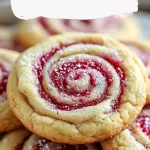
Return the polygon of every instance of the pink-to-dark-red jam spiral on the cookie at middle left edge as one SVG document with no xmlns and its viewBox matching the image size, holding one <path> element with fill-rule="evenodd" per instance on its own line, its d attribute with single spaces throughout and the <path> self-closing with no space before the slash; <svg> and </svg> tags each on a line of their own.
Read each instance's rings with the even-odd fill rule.
<svg viewBox="0 0 150 150">
<path fill-rule="evenodd" d="M 0 102 L 6 99 L 6 86 L 9 71 L 7 68 L 7 63 L 0 59 Z"/>
</svg>

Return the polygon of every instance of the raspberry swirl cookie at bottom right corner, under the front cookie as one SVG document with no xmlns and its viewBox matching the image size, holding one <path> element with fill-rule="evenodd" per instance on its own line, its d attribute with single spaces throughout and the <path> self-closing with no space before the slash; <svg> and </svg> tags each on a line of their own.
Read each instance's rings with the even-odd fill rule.
<svg viewBox="0 0 150 150">
<path fill-rule="evenodd" d="M 134 123 L 121 134 L 101 142 L 104 150 L 149 150 L 150 105 L 143 108 Z"/>
</svg>

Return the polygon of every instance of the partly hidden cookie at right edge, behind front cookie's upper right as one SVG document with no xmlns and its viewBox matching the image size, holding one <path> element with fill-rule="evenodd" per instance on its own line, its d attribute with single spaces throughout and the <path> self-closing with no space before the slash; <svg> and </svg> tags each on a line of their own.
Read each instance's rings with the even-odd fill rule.
<svg viewBox="0 0 150 150">
<path fill-rule="evenodd" d="M 148 95 L 147 103 L 150 103 L 150 45 L 142 41 L 121 41 L 123 44 L 128 46 L 144 63 L 146 71 L 148 73 Z"/>
</svg>

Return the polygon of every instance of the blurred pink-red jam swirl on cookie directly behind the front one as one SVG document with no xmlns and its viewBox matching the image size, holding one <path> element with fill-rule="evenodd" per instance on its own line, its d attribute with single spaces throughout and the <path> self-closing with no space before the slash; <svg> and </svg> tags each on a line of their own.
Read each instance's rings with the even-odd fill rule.
<svg viewBox="0 0 150 150">
<path fill-rule="evenodd" d="M 39 17 L 37 21 L 50 35 L 57 34 L 57 27 L 62 31 L 78 31 L 78 32 L 103 32 L 108 30 L 117 30 L 121 28 L 121 19 L 114 16 L 106 17 L 103 19 L 93 20 L 71 20 L 71 19 L 56 19 L 48 20 L 44 17 Z M 54 23 L 54 26 L 51 25 Z"/>
</svg>

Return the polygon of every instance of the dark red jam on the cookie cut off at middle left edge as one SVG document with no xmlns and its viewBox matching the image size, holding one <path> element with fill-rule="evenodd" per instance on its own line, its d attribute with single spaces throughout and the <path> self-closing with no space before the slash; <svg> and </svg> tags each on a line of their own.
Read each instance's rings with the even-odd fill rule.
<svg viewBox="0 0 150 150">
<path fill-rule="evenodd" d="M 5 66 L 2 63 L 0 63 L 0 71 L 0 95 L 2 95 L 6 92 L 9 71 L 6 70 Z"/>
</svg>

